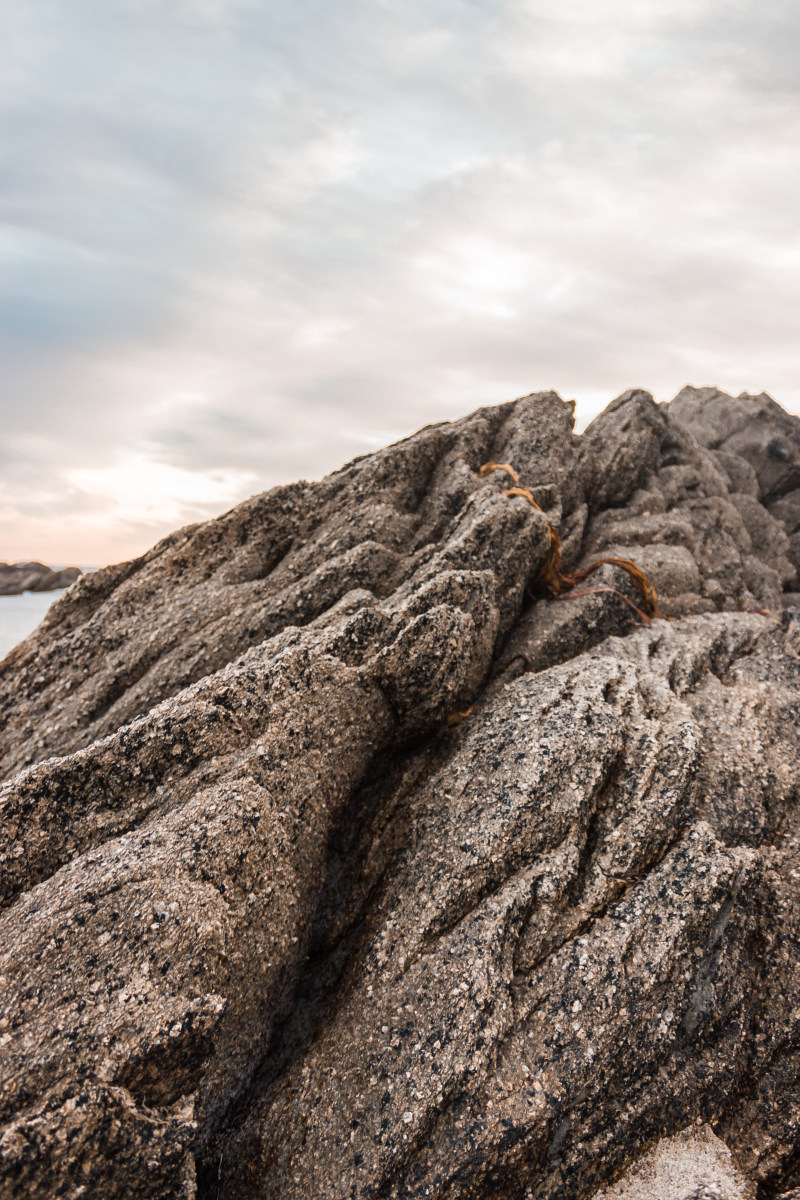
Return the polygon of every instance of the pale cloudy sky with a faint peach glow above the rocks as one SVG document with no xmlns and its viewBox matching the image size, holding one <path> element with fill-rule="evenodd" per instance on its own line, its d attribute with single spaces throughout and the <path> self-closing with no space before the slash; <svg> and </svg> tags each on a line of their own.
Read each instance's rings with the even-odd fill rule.
<svg viewBox="0 0 800 1200">
<path fill-rule="evenodd" d="M 0 559 L 542 389 L 800 413 L 796 0 L 5 0 Z"/>
</svg>

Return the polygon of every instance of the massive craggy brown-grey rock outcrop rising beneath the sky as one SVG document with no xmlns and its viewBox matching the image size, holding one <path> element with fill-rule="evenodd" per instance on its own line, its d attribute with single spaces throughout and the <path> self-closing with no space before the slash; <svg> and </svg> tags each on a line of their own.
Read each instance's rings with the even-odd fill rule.
<svg viewBox="0 0 800 1200">
<path fill-rule="evenodd" d="M 78 581 L 0 665 L 0 1190 L 800 1186 L 799 448 L 541 394 Z"/>
</svg>

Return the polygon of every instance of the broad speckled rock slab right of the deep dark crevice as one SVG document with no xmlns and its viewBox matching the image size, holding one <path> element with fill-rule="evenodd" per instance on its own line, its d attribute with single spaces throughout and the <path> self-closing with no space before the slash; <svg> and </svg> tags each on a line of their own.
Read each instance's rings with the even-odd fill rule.
<svg viewBox="0 0 800 1200">
<path fill-rule="evenodd" d="M 444 764 L 423 751 L 363 832 L 367 871 L 387 804 L 410 838 L 369 932 L 307 1051 L 219 1144 L 223 1194 L 582 1195 L 667 1114 L 718 1122 L 757 1054 L 754 944 L 777 932 L 756 934 L 752 904 L 774 816 L 753 824 L 756 797 L 730 794 L 729 739 L 786 812 L 786 684 L 740 707 L 748 660 L 783 636 L 714 616 L 612 638 L 504 689 Z"/>
</svg>

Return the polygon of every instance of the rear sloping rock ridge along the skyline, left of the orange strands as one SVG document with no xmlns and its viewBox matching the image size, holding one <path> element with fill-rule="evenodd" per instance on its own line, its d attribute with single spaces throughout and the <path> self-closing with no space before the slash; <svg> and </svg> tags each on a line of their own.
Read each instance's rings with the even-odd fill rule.
<svg viewBox="0 0 800 1200">
<path fill-rule="evenodd" d="M 541 460 L 531 446 L 528 457 L 515 450 L 521 422 L 536 425 Z M 471 496 L 501 486 L 477 479 L 477 468 L 513 455 L 521 473 L 534 474 L 554 446 L 572 454 L 571 425 L 571 406 L 553 394 L 485 409 L 320 484 L 253 497 L 133 563 L 84 576 L 36 641 L 0 667 L 0 769 L 89 745 L 287 626 L 308 625 L 354 588 L 389 596 L 435 574 L 440 552 L 473 566 L 470 538 L 485 540 L 485 560 L 511 558 L 491 517 L 471 532 L 456 528 L 470 520 Z M 498 521 L 528 522 L 523 500 L 516 517 L 506 508 L 497 508 Z M 516 583 L 499 593 L 506 626 L 527 582 L 521 564 L 511 569 Z"/>
</svg>

